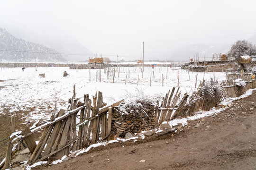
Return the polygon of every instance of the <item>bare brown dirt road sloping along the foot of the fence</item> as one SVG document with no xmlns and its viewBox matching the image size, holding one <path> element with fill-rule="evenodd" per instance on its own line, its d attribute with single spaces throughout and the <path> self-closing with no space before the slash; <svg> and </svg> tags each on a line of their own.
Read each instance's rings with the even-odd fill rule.
<svg viewBox="0 0 256 170">
<path fill-rule="evenodd" d="M 37 169 L 256 170 L 256 92 L 233 103 L 218 115 L 189 121 L 174 137 L 109 144 Z"/>
</svg>

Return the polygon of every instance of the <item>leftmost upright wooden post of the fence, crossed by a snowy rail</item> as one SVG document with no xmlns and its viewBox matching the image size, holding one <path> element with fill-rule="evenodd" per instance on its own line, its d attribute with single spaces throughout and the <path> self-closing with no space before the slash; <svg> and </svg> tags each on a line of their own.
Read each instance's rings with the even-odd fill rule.
<svg viewBox="0 0 256 170">
<path fill-rule="evenodd" d="M 11 115 L 11 127 L 10 127 L 10 135 L 14 133 L 15 131 L 15 117 L 14 115 Z M 5 163 L 4 163 L 4 170 L 10 168 L 10 162 L 11 162 L 11 148 L 12 148 L 12 138 L 9 138 L 9 144 L 6 149 L 5 154 Z"/>
</svg>

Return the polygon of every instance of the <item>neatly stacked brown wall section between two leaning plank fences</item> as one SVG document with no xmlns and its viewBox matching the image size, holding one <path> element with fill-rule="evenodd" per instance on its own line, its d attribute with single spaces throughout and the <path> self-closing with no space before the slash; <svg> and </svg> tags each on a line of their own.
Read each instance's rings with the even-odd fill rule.
<svg viewBox="0 0 256 170">
<path fill-rule="evenodd" d="M 115 107 L 112 113 L 111 131 L 119 136 L 130 133 L 139 133 L 143 130 L 155 128 L 155 106 L 144 105 L 143 109 L 133 108 L 127 114 L 123 114 L 119 107 Z"/>
</svg>

